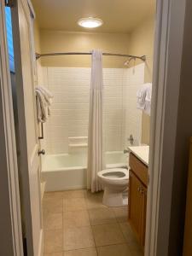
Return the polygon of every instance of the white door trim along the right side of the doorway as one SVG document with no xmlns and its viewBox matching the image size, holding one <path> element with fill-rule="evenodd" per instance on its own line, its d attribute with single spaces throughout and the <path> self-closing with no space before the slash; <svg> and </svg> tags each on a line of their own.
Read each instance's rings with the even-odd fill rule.
<svg viewBox="0 0 192 256">
<path fill-rule="evenodd" d="M 185 0 L 157 1 L 146 256 L 169 255 L 185 5 Z"/>
</svg>

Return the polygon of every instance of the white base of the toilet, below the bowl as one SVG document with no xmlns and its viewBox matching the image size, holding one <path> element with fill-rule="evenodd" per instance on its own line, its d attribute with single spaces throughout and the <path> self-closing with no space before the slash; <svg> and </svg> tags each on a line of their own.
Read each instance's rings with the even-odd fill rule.
<svg viewBox="0 0 192 256">
<path fill-rule="evenodd" d="M 102 203 L 107 207 L 124 207 L 128 204 L 128 198 L 123 197 L 123 192 L 105 188 Z"/>
</svg>

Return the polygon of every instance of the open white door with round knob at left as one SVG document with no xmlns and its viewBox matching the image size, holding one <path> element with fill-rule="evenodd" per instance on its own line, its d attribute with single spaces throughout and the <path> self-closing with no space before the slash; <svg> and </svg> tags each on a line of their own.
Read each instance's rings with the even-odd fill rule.
<svg viewBox="0 0 192 256">
<path fill-rule="evenodd" d="M 38 124 L 36 117 L 32 17 L 26 0 L 12 8 L 15 51 L 15 79 L 19 123 L 19 169 L 23 217 L 28 256 L 42 251 L 42 214 Z"/>
</svg>

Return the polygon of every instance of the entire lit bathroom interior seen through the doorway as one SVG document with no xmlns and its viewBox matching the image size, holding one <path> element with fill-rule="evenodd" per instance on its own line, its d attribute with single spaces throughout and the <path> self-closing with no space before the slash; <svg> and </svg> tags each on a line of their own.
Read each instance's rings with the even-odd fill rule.
<svg viewBox="0 0 192 256">
<path fill-rule="evenodd" d="M 138 95 L 146 88 L 151 95 L 155 1 L 135 2 L 30 2 L 40 145 L 33 243 L 39 236 L 43 244 L 35 256 L 144 255 L 150 107 L 138 106 Z M 81 26 L 84 18 L 99 25 Z M 13 84 L 14 73 L 15 98 Z M 46 117 L 39 110 L 43 90 L 49 95 Z M 144 196 L 137 202 L 134 178 Z"/>
</svg>

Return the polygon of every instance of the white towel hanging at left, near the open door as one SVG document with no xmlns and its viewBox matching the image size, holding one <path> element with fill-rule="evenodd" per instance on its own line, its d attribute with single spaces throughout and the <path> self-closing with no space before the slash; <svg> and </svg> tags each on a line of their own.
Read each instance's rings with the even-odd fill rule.
<svg viewBox="0 0 192 256">
<path fill-rule="evenodd" d="M 53 95 L 49 90 L 44 87 L 36 87 L 36 103 L 37 103 L 37 116 L 38 122 L 44 123 L 47 121 L 50 115 L 50 104 L 52 102 Z"/>
</svg>

